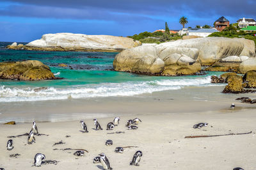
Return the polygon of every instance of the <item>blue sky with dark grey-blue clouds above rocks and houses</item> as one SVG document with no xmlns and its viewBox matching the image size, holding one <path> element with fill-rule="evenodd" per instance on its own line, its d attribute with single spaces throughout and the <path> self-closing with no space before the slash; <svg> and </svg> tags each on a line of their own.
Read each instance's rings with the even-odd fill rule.
<svg viewBox="0 0 256 170">
<path fill-rule="evenodd" d="M 255 0 L 0 0 L 0 42 L 31 42 L 47 33 L 129 36 L 144 31 L 256 20 Z"/>
</svg>

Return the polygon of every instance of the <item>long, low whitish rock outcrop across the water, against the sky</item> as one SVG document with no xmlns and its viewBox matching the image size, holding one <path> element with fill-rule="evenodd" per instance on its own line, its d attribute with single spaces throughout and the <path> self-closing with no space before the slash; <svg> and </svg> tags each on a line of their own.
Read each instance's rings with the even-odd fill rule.
<svg viewBox="0 0 256 170">
<path fill-rule="evenodd" d="M 26 50 L 50 51 L 106 51 L 120 52 L 141 45 L 132 38 L 110 35 L 82 35 L 72 33 L 56 33 L 43 35 L 40 40 L 29 42 L 22 46 Z M 8 46 L 10 49 L 20 49 L 19 45 Z"/>
</svg>

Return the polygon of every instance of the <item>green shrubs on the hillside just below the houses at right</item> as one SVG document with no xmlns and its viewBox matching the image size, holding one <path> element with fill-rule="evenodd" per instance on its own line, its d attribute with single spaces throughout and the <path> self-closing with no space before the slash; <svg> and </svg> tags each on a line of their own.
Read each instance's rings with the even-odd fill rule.
<svg viewBox="0 0 256 170">
<path fill-rule="evenodd" d="M 212 33 L 209 36 L 221 36 L 221 37 L 228 37 L 228 38 L 246 38 L 248 40 L 253 40 L 256 44 L 256 31 L 252 33 L 246 33 L 243 30 L 237 29 L 237 27 L 229 26 L 223 29 L 221 32 Z"/>
</svg>

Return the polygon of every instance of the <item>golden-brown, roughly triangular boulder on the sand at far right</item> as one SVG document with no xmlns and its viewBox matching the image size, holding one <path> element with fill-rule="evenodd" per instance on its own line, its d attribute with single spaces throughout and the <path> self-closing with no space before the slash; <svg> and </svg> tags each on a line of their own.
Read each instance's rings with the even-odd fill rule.
<svg viewBox="0 0 256 170">
<path fill-rule="evenodd" d="M 244 93 L 242 82 L 243 79 L 241 76 L 231 76 L 228 80 L 228 85 L 225 86 L 222 93 Z"/>
</svg>

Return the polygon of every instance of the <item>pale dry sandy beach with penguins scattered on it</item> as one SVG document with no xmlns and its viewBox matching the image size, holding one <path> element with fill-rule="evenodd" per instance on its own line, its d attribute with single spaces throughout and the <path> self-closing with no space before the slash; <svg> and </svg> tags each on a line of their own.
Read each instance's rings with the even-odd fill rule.
<svg viewBox="0 0 256 170">
<path fill-rule="evenodd" d="M 204 90 L 204 88 L 200 89 Z M 212 89 L 221 89 L 221 87 L 213 87 Z M 180 90 L 180 93 L 186 93 L 186 88 L 183 90 L 183 92 Z M 191 91 L 191 89 L 188 90 Z M 211 88 L 205 88 L 205 96 L 207 96 L 207 91 L 211 91 Z M 223 97 L 218 97 L 219 99 L 216 100 L 212 95 L 211 101 L 202 101 L 202 95 L 200 100 L 191 100 L 188 94 L 187 100 L 190 102 L 186 102 L 187 100 L 182 101 L 177 96 L 173 97 L 174 100 L 164 100 L 168 93 L 173 93 L 173 91 L 165 91 L 166 95 L 163 93 L 152 93 L 151 99 L 153 100 L 150 100 L 151 102 L 145 100 L 145 97 L 143 99 L 136 98 L 136 100 L 130 98 L 130 102 L 125 100 L 126 106 L 120 104 L 124 102 L 124 98 L 119 100 L 119 103 L 116 101 L 117 99 L 109 100 L 106 104 L 103 104 L 104 102 L 99 104 L 99 101 L 98 103 L 94 101 L 95 104 L 92 104 L 91 107 L 95 108 L 95 112 L 100 112 L 102 108 L 109 112 L 106 116 L 100 117 L 98 115 L 99 123 L 104 130 L 96 131 L 93 129 L 95 128 L 92 120 L 93 115 L 90 115 L 92 118 L 84 117 L 89 133 L 79 131 L 81 130 L 79 116 L 77 116 L 76 121 L 36 121 L 39 133 L 49 136 L 35 136 L 36 143 L 33 144 L 27 144 L 27 136 L 12 138 L 14 148 L 11 151 L 6 150 L 6 143 L 8 139 L 11 139 L 8 136 L 29 132 L 32 123 L 2 124 L 0 125 L 0 148 L 2 150 L 0 167 L 5 169 L 102 169 L 101 164 L 93 164 L 93 158 L 103 152 L 108 157 L 113 169 L 233 169 L 234 167 L 255 169 L 256 107 L 252 104 L 241 104 L 234 100 L 243 94 L 223 95 L 216 93 L 216 98 L 218 95 L 223 95 Z M 154 100 L 154 98 L 157 99 Z M 115 109 L 111 105 L 115 102 L 117 103 L 116 110 L 120 111 L 119 114 L 118 112 L 111 112 L 109 109 Z M 230 109 L 232 102 L 237 105 L 235 109 Z M 96 104 L 98 107 L 95 107 Z M 143 108 L 139 105 L 142 105 Z M 122 106 L 125 106 L 123 112 Z M 87 110 L 88 112 L 91 112 L 91 107 Z M 65 108 L 56 110 L 61 112 Z M 77 108 L 76 111 L 81 108 L 86 110 L 86 105 Z M 30 107 L 28 107 L 28 112 L 29 109 Z M 177 112 L 178 110 L 180 112 Z M 48 109 L 44 110 L 45 114 L 47 111 Z M 121 118 L 120 125 L 114 130 L 106 130 L 107 123 L 113 121 L 115 116 Z M 136 117 L 142 121 L 138 125 L 139 128 L 128 130 L 125 127 L 126 121 Z M 209 125 L 201 129 L 193 128 L 193 125 L 200 122 L 209 123 Z M 184 138 L 188 135 L 221 135 L 251 131 L 251 134 L 246 135 Z M 124 133 L 108 134 L 111 132 Z M 70 135 L 70 137 L 66 137 L 66 135 Z M 108 139 L 113 141 L 113 146 L 105 145 Z M 60 141 L 65 144 L 53 146 L 54 143 Z M 115 153 L 114 150 L 118 146 L 138 146 L 138 148 L 125 148 L 124 153 Z M 76 157 L 73 155 L 74 150 L 60 150 L 65 148 L 84 149 L 88 150 L 88 153 L 85 153 L 84 157 Z M 130 166 L 129 162 L 137 150 L 143 152 L 140 166 Z M 19 153 L 20 156 L 11 158 L 10 155 L 15 153 Z M 46 160 L 58 160 L 59 162 L 56 165 L 47 164 L 42 165 L 42 167 L 31 167 L 36 153 L 44 153 Z"/>
</svg>

